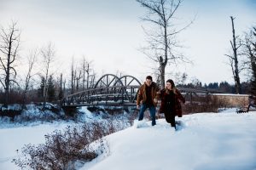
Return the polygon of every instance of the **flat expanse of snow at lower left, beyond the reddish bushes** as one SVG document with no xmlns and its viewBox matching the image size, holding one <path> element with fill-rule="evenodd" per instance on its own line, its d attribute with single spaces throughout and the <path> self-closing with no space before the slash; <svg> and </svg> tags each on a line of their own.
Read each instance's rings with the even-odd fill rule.
<svg viewBox="0 0 256 170">
<path fill-rule="evenodd" d="M 26 127 L 11 127 L 0 129 L 0 169 L 19 169 L 11 161 L 18 156 L 17 150 L 20 150 L 24 144 L 44 143 L 44 135 L 52 133 L 55 129 L 64 129 L 68 122 L 44 123 Z"/>
</svg>

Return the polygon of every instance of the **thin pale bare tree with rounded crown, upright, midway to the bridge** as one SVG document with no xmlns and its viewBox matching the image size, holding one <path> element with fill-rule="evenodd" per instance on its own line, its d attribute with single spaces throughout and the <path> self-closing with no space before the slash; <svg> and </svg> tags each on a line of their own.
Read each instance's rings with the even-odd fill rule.
<svg viewBox="0 0 256 170">
<path fill-rule="evenodd" d="M 50 67 L 53 64 L 55 60 L 55 48 L 52 42 L 49 42 L 44 48 L 41 49 L 41 54 L 43 58 L 43 72 L 44 72 L 44 105 L 47 100 L 47 95 L 48 95 L 48 86 L 47 82 L 49 79 L 50 73 Z"/>
</svg>

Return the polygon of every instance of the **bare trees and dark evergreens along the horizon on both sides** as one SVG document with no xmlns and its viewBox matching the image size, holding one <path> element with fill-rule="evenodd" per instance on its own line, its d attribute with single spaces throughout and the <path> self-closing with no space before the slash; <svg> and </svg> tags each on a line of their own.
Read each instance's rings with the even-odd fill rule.
<svg viewBox="0 0 256 170">
<path fill-rule="evenodd" d="M 53 102 L 63 99 L 68 94 L 74 94 L 91 88 L 96 82 L 96 72 L 92 61 L 82 56 L 72 59 L 69 68 L 65 68 L 66 75 L 59 71 L 61 65 L 55 46 L 49 42 L 41 48 L 28 51 L 26 56 L 20 57 L 20 29 L 16 22 L 0 29 L 0 104 L 27 104 L 31 102 Z M 252 27 L 239 41 L 240 71 L 247 73 L 248 82 L 241 82 L 239 94 L 256 95 L 256 28 Z M 237 49 L 238 51 L 238 49 Z M 229 55 L 230 59 L 232 55 Z M 20 63 L 22 61 L 22 63 Z M 233 71 L 233 61 L 230 66 Z M 25 66 L 24 66 L 25 65 Z M 26 67 L 27 66 L 27 67 Z M 22 76 L 20 72 L 22 67 Z M 56 71 L 58 70 L 58 71 Z M 181 76 L 181 79 L 185 79 Z M 228 82 L 212 82 L 202 85 L 201 82 L 180 83 L 183 88 L 214 89 L 219 92 L 237 94 L 236 85 Z M 234 81 L 236 82 L 236 81 Z"/>
</svg>

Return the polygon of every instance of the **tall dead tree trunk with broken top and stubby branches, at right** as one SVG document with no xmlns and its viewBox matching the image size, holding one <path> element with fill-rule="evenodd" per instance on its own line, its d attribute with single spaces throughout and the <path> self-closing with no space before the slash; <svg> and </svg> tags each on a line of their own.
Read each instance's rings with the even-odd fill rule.
<svg viewBox="0 0 256 170">
<path fill-rule="evenodd" d="M 232 41 L 230 41 L 230 44 L 232 47 L 233 54 L 231 55 L 225 54 L 225 55 L 228 56 L 230 59 L 230 66 L 232 69 L 235 86 L 236 86 L 236 94 L 241 94 L 241 83 L 240 83 L 240 77 L 239 77 L 239 73 L 241 70 L 239 69 L 238 52 L 237 52 L 238 48 L 241 47 L 241 43 L 237 44 L 239 42 L 239 38 L 236 37 L 235 26 L 234 26 L 235 18 L 230 16 L 230 19 L 232 22 L 232 36 L 233 36 L 233 39 Z"/>
</svg>

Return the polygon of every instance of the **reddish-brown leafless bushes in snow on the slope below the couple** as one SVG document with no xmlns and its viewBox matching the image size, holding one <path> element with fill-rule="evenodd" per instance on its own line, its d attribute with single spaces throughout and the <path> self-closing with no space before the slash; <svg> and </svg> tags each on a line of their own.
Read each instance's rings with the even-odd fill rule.
<svg viewBox="0 0 256 170">
<path fill-rule="evenodd" d="M 125 128 L 122 122 L 91 122 L 45 135 L 45 144 L 26 144 L 13 160 L 21 169 L 74 169 L 76 161 L 91 161 L 109 152 L 103 137 Z"/>
</svg>

